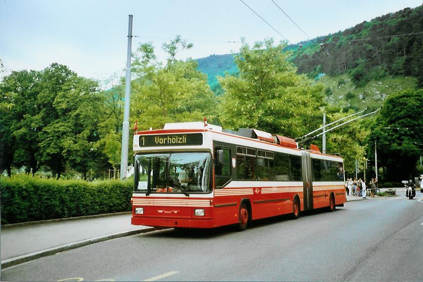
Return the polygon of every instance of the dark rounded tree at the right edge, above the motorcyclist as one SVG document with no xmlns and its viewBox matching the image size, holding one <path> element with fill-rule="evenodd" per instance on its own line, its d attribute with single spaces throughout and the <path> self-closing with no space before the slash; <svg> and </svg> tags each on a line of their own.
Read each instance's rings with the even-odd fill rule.
<svg viewBox="0 0 423 282">
<path fill-rule="evenodd" d="M 391 181 L 412 179 L 423 151 L 423 90 L 402 91 L 388 96 L 378 112 L 369 136 L 368 156 L 386 168 Z"/>
</svg>

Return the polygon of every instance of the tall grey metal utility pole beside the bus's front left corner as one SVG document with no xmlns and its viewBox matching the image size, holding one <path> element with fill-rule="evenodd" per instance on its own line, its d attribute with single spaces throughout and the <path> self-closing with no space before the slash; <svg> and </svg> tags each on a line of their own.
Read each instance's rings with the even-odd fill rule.
<svg viewBox="0 0 423 282">
<path fill-rule="evenodd" d="M 120 154 L 120 179 L 126 177 L 128 168 L 128 141 L 129 141 L 129 102 L 131 95 L 131 50 L 132 50 L 132 15 L 129 15 L 128 23 L 128 51 L 126 56 L 125 77 L 125 104 L 122 122 L 122 151 Z"/>
</svg>

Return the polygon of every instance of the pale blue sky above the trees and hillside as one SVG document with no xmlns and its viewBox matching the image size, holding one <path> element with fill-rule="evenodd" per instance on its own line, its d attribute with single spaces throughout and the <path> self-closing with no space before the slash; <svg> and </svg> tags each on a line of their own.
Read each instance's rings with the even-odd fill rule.
<svg viewBox="0 0 423 282">
<path fill-rule="evenodd" d="M 290 43 L 307 37 L 271 0 L 243 0 Z M 414 8 L 422 0 L 274 0 L 311 38 Z M 128 15 L 134 16 L 132 51 L 176 35 L 194 44 L 179 59 L 238 51 L 241 37 L 254 43 L 283 38 L 240 0 L 1 0 L 0 56 L 6 71 L 67 65 L 78 75 L 104 80 L 123 75 Z M 7 73 L 7 72 L 6 72 Z"/>
</svg>

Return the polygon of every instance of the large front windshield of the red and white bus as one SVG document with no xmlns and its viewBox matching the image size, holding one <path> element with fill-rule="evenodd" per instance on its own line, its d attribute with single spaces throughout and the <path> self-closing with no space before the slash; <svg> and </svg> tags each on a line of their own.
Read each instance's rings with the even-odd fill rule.
<svg viewBox="0 0 423 282">
<path fill-rule="evenodd" d="M 211 167 L 206 152 L 136 155 L 134 192 L 210 193 Z"/>
</svg>

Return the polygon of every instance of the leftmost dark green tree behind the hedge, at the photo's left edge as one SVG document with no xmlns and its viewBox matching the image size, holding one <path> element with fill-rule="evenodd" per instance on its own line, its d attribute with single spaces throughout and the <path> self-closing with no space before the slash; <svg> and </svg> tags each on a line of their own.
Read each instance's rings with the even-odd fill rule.
<svg viewBox="0 0 423 282">
<path fill-rule="evenodd" d="M 9 176 L 12 165 L 25 166 L 26 172 L 32 170 L 33 174 L 39 168 L 35 153 L 40 127 L 34 123 L 40 112 L 36 103 L 39 82 L 38 71 L 13 71 L 0 85 L 0 163 Z"/>
</svg>

